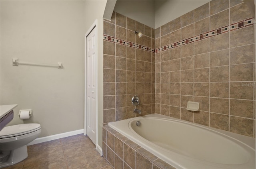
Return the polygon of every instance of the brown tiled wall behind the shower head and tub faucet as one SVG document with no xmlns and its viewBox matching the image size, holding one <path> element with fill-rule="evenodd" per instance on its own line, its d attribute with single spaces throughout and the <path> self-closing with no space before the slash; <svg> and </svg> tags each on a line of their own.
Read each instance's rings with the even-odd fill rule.
<svg viewBox="0 0 256 169">
<path fill-rule="evenodd" d="M 113 12 L 111 21 L 104 20 L 103 39 L 103 124 L 138 116 L 134 95 L 142 115 L 154 113 L 154 29 Z"/>
</svg>

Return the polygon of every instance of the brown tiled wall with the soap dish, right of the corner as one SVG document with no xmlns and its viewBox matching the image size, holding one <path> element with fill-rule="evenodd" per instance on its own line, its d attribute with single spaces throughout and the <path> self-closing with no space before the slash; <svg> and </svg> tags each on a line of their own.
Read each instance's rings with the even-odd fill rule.
<svg viewBox="0 0 256 169">
<path fill-rule="evenodd" d="M 255 138 L 255 20 L 241 2 L 211 1 L 155 30 L 155 113 Z"/>
</svg>

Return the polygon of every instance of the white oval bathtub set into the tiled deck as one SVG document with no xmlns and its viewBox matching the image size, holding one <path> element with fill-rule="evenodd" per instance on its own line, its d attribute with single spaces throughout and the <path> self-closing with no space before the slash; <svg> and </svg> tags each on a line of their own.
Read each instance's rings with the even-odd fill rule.
<svg viewBox="0 0 256 169">
<path fill-rule="evenodd" d="M 254 138 L 160 114 L 108 126 L 176 168 L 255 169 Z"/>
</svg>

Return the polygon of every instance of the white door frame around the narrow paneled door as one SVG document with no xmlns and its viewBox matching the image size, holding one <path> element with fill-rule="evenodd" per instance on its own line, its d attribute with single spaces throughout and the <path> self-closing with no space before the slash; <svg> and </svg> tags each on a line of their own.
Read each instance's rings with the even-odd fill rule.
<svg viewBox="0 0 256 169">
<path fill-rule="evenodd" d="M 86 69 L 87 69 L 87 36 L 91 33 L 91 31 L 95 29 L 96 31 L 96 75 L 98 75 L 98 20 L 96 19 L 93 24 L 90 26 L 88 31 L 86 31 L 84 35 L 84 135 L 86 135 Z M 97 76 L 98 77 L 98 76 Z M 96 81 L 96 149 L 98 147 L 98 78 Z"/>
</svg>

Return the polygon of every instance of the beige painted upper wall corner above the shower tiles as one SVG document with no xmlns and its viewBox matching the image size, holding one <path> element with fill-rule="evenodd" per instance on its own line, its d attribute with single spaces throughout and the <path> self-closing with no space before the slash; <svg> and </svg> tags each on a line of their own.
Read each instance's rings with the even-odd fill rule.
<svg viewBox="0 0 256 169">
<path fill-rule="evenodd" d="M 117 0 L 114 11 L 156 29 L 209 1 L 210 0 Z"/>
</svg>

